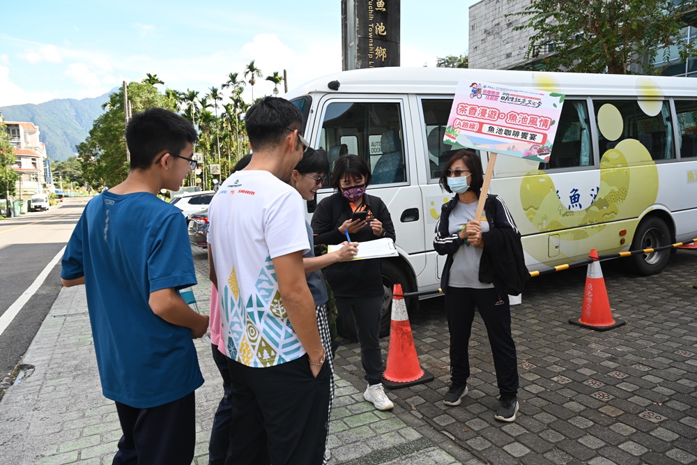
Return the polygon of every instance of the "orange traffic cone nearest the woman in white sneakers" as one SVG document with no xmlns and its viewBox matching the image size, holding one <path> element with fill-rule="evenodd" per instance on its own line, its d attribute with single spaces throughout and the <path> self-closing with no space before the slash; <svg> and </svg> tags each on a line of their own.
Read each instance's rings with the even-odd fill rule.
<svg viewBox="0 0 697 465">
<path fill-rule="evenodd" d="M 383 372 L 383 385 L 389 389 L 406 388 L 434 380 L 434 375 L 419 365 L 414 336 L 406 313 L 401 284 L 392 290 L 392 321 L 388 362 Z"/>
</svg>

